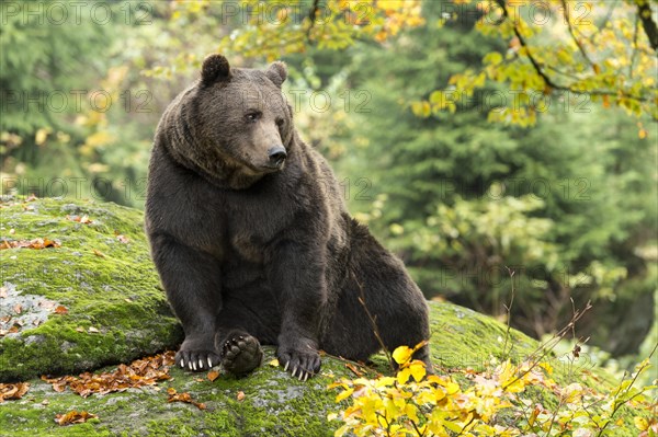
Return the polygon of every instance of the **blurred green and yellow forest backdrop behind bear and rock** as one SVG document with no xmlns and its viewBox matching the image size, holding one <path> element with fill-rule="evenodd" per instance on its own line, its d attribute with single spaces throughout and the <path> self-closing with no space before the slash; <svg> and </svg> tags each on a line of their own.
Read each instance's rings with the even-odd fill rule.
<svg viewBox="0 0 658 437">
<path fill-rule="evenodd" d="M 204 56 L 283 59 L 302 137 L 428 298 L 504 321 L 513 292 L 535 337 L 591 301 L 576 335 L 625 366 L 658 336 L 657 7 L 517 3 L 2 2 L 2 194 L 141 208 Z"/>
</svg>

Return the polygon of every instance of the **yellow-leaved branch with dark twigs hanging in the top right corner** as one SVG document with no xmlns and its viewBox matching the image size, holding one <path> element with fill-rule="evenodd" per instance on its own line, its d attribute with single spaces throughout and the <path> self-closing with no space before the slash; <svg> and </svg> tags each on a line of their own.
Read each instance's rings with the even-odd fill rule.
<svg viewBox="0 0 658 437">
<path fill-rule="evenodd" d="M 549 94 L 587 96 L 604 107 L 658 117 L 656 24 L 648 1 L 496 0 L 477 7 L 481 16 L 475 27 L 506 42 L 507 50 L 486 55 L 483 71 L 453 76 L 452 87 L 430 95 L 420 115 L 454 112 L 461 97 L 470 99 L 489 79 L 506 84 L 511 101 L 491 110 L 494 120 L 533 124 Z"/>
</svg>

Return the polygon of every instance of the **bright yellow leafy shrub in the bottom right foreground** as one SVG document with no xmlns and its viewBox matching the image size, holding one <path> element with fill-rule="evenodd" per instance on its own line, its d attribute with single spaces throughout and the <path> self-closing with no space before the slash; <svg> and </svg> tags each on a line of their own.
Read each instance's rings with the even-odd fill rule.
<svg viewBox="0 0 658 437">
<path fill-rule="evenodd" d="M 349 401 L 342 411 L 328 416 L 343 423 L 337 437 L 350 433 L 387 437 L 593 437 L 625 426 L 620 414 L 623 406 L 633 411 L 639 435 L 658 433 L 658 404 L 648 395 L 657 386 L 633 387 L 637 376 L 649 368 L 648 359 L 617 387 L 598 391 L 577 382 L 558 384 L 552 379 L 548 363 L 514 365 L 507 359 L 481 372 L 466 369 L 427 375 L 424 365 L 411 359 L 412 353 L 407 346 L 394 352 L 400 367 L 397 377 L 358 378 L 329 386 L 342 389 L 337 402 L 345 405 Z M 537 391 L 555 399 L 557 406 L 538 402 Z"/>
</svg>

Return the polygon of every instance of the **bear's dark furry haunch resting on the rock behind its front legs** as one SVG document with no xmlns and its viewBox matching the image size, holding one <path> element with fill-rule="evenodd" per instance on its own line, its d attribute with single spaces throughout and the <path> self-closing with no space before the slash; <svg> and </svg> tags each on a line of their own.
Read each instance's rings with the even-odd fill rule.
<svg viewBox="0 0 658 437">
<path fill-rule="evenodd" d="M 382 343 L 393 352 L 398 346 L 415 347 L 428 341 L 428 304 L 402 262 L 377 243 L 366 228 L 353 222 L 352 231 L 348 277 L 322 348 L 365 360 L 382 348 Z M 426 364 L 428 373 L 432 372 L 428 345 L 413 358 Z"/>
</svg>

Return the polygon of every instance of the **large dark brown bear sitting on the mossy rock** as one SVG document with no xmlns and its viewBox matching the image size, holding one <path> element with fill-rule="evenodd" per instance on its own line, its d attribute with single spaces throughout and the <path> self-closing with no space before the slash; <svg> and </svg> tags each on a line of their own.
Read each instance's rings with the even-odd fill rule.
<svg viewBox="0 0 658 437">
<path fill-rule="evenodd" d="M 282 62 L 230 68 L 211 55 L 158 125 L 146 231 L 185 333 L 183 368 L 243 375 L 269 344 L 306 380 L 319 349 L 366 360 L 382 344 L 429 338 L 421 291 L 350 217 L 327 161 L 295 130 L 286 76 Z M 416 358 L 430 366 L 428 347 Z"/>
</svg>

